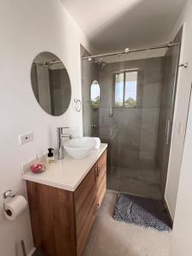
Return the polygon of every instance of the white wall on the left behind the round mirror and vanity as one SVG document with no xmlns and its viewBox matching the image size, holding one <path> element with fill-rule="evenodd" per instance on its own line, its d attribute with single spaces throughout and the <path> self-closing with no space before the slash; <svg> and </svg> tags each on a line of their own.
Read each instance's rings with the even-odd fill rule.
<svg viewBox="0 0 192 256">
<path fill-rule="evenodd" d="M 56 145 L 56 127 L 69 125 L 82 134 L 82 114 L 73 111 L 53 117 L 33 96 L 30 71 L 42 51 L 55 53 L 67 67 L 72 97 L 81 96 L 80 45 L 90 46 L 59 0 L 0 0 L 0 195 L 7 189 L 26 195 L 20 165 Z M 34 141 L 19 145 L 18 135 L 32 131 Z M 0 200 L 0 255 L 20 256 L 20 239 L 32 249 L 29 212 L 15 222 L 3 218 Z"/>
</svg>

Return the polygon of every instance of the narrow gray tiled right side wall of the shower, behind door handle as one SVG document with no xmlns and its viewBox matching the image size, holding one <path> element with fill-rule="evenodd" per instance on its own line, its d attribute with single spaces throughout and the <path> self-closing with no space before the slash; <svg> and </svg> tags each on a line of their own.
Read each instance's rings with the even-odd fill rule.
<svg viewBox="0 0 192 256">
<path fill-rule="evenodd" d="M 173 43 L 181 43 L 181 29 Z M 167 50 L 164 58 L 163 81 L 160 102 L 160 122 L 158 134 L 156 166 L 160 169 L 160 189 L 162 194 L 166 188 L 166 175 L 169 163 L 172 122 L 177 90 L 177 73 L 180 56 L 180 44 Z"/>
</svg>

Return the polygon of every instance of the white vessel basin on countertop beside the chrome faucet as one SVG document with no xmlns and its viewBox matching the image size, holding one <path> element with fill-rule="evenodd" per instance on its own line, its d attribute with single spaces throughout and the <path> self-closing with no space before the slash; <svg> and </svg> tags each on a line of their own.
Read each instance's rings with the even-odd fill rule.
<svg viewBox="0 0 192 256">
<path fill-rule="evenodd" d="M 91 153 L 91 149 L 96 147 L 96 139 L 93 137 L 73 138 L 64 143 L 64 148 L 74 159 L 82 159 Z"/>
</svg>

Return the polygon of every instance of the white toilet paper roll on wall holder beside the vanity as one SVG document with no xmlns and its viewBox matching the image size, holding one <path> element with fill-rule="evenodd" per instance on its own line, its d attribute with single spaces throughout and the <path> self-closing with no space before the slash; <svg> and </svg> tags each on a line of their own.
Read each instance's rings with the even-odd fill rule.
<svg viewBox="0 0 192 256">
<path fill-rule="evenodd" d="M 16 195 L 4 202 L 4 216 L 9 220 L 15 220 L 20 212 L 23 212 L 27 207 L 26 198 L 22 195 Z"/>
</svg>

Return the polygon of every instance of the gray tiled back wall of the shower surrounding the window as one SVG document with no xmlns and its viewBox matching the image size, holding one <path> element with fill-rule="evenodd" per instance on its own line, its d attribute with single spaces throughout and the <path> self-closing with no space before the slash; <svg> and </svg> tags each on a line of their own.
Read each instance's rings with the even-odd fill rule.
<svg viewBox="0 0 192 256">
<path fill-rule="evenodd" d="M 163 58 L 115 62 L 100 68 L 99 136 L 108 143 L 108 172 L 153 170 L 160 113 Z M 138 68 L 137 108 L 113 107 L 113 73 Z"/>
</svg>

